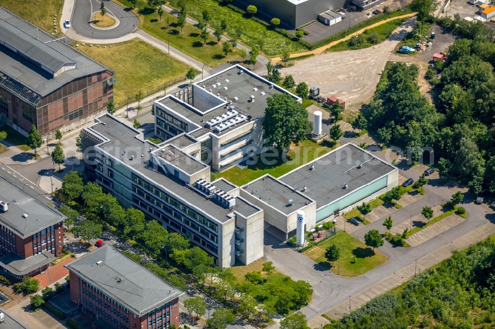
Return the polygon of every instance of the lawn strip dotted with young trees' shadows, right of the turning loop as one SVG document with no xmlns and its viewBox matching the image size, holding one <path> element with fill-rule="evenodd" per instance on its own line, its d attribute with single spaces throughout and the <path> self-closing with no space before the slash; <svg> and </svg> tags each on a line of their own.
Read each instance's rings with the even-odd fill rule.
<svg viewBox="0 0 495 329">
<path fill-rule="evenodd" d="M 187 23 L 182 29 L 177 26 L 178 18 L 168 12 L 164 12 L 160 21 L 157 13 L 141 15 L 140 28 L 155 38 L 168 42 L 198 61 L 214 67 L 226 61 L 239 57 L 238 49 L 234 48 L 225 56 L 222 50 L 223 41 L 217 43 L 215 37 L 208 34 L 206 43 L 200 38 L 201 31 L 195 26 Z M 232 48 L 231 48 L 232 49 Z"/>
</svg>

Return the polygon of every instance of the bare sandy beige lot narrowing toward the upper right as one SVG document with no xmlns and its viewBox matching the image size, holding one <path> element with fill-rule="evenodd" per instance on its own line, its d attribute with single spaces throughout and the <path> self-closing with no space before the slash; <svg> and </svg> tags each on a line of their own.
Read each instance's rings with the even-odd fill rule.
<svg viewBox="0 0 495 329">
<path fill-rule="evenodd" d="M 368 102 L 375 92 L 380 74 L 397 43 L 412 31 L 414 20 L 399 26 L 386 40 L 373 47 L 341 52 L 327 52 L 281 70 L 296 82 L 320 87 L 322 96 L 336 95 L 346 107 Z"/>
</svg>

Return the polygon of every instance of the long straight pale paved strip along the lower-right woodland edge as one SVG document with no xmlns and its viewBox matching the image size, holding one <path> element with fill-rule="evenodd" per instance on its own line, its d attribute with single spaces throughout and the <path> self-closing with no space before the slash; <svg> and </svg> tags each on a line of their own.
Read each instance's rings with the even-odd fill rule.
<svg viewBox="0 0 495 329">
<path fill-rule="evenodd" d="M 465 249 L 480 240 L 486 239 L 489 235 L 495 233 L 495 225 L 492 223 L 486 223 L 477 229 L 463 235 L 462 237 L 452 241 L 450 244 L 435 250 L 420 259 L 417 262 L 412 262 L 409 265 L 403 267 L 393 275 L 382 279 L 376 284 L 372 285 L 368 289 L 357 293 L 350 298 L 350 308 L 355 310 L 365 303 L 370 301 L 392 288 L 395 288 L 402 283 L 408 281 L 414 277 L 415 274 L 421 273 L 421 269 L 427 269 L 435 264 L 440 263 L 442 260 L 450 257 L 453 250 Z M 349 312 L 349 301 L 346 300 L 339 305 L 327 310 L 325 313 L 334 319 L 340 319 L 342 316 Z M 328 324 L 328 320 L 323 317 L 313 319 L 308 323 L 310 328 L 318 328 L 320 325 Z"/>
</svg>

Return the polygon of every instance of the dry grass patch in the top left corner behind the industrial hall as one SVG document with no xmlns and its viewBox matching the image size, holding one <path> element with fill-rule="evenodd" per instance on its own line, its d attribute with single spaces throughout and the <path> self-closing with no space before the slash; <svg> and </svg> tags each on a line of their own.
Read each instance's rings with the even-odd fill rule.
<svg viewBox="0 0 495 329">
<path fill-rule="evenodd" d="M 53 26 L 53 18 L 55 18 L 54 15 L 60 17 L 62 5 L 63 0 L 0 0 L 0 6 L 41 27 L 46 32 L 52 33 L 53 28 L 56 27 L 58 32 L 55 36 L 60 36 L 61 32 L 59 19 L 55 20 L 56 26 Z"/>
</svg>

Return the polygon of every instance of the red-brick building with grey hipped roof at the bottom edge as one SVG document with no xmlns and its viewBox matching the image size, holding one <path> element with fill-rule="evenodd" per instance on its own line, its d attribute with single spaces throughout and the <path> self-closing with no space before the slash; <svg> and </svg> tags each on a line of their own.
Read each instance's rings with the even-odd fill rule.
<svg viewBox="0 0 495 329">
<path fill-rule="evenodd" d="M 100 247 L 65 267 L 70 299 L 95 319 L 94 329 L 179 326 L 179 296 L 184 292 L 117 249 Z"/>
</svg>

